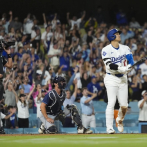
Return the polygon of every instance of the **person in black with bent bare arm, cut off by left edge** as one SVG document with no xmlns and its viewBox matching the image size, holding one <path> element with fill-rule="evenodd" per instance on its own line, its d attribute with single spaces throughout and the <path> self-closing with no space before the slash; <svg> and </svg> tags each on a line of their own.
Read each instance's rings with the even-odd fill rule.
<svg viewBox="0 0 147 147">
<path fill-rule="evenodd" d="M 3 44 L 1 43 L 1 45 L 3 46 Z M 4 56 L 2 56 L 2 51 L 5 50 L 5 52 L 7 53 L 7 57 L 8 59 L 4 58 Z M 11 50 L 9 48 L 4 48 L 4 47 L 0 47 L 0 101 L 3 99 L 3 93 L 4 93 L 4 86 L 3 86 L 3 67 L 8 67 L 8 68 L 12 68 L 12 57 L 11 57 Z M 0 122 L 1 122 L 1 108 L 0 108 Z M 5 132 L 3 131 L 3 128 L 1 127 L 1 123 L 0 123 L 0 134 L 5 134 Z"/>
</svg>

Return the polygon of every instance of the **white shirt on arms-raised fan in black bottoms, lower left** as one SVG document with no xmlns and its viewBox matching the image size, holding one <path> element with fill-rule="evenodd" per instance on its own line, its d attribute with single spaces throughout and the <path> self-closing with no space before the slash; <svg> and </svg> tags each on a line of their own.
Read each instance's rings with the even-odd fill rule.
<svg viewBox="0 0 147 147">
<path fill-rule="evenodd" d="M 18 118 L 29 118 L 29 103 L 27 100 L 25 107 L 24 104 L 21 103 L 21 101 L 18 101 L 17 108 L 18 108 Z"/>
</svg>

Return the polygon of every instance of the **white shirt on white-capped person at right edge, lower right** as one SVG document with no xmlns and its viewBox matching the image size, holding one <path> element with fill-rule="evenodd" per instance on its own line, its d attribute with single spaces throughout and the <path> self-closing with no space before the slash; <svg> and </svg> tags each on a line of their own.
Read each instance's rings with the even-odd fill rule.
<svg viewBox="0 0 147 147">
<path fill-rule="evenodd" d="M 139 121 L 147 121 L 147 102 L 144 102 L 142 109 L 140 108 L 140 104 L 143 102 L 143 99 L 138 102 L 139 108 Z"/>
</svg>

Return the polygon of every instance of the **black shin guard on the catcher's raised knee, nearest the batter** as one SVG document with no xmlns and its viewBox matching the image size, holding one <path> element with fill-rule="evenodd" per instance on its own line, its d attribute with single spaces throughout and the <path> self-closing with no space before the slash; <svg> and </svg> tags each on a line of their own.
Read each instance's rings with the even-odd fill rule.
<svg viewBox="0 0 147 147">
<path fill-rule="evenodd" d="M 75 124 L 82 128 L 82 121 L 81 121 L 81 117 L 79 115 L 79 112 L 77 110 L 77 107 L 75 105 L 67 105 L 66 108 L 68 110 L 70 110 L 70 113 L 71 113 L 71 118 L 72 120 L 75 122 Z"/>
</svg>

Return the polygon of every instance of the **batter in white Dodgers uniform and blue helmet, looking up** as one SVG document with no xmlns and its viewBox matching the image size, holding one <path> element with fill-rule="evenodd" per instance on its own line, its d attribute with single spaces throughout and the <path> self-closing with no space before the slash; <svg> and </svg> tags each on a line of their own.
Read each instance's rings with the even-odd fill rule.
<svg viewBox="0 0 147 147">
<path fill-rule="evenodd" d="M 134 64 L 130 48 L 119 44 L 121 31 L 112 29 L 108 32 L 107 38 L 110 44 L 102 49 L 102 59 L 106 67 L 104 83 L 107 89 L 108 105 L 106 108 L 106 127 L 107 133 L 113 134 L 114 105 L 118 98 L 120 109 L 116 122 L 118 131 L 123 132 L 123 119 L 128 107 L 128 81 L 127 73 Z M 127 64 L 127 62 L 129 64 Z"/>
</svg>

